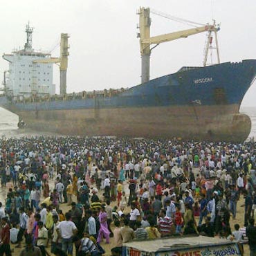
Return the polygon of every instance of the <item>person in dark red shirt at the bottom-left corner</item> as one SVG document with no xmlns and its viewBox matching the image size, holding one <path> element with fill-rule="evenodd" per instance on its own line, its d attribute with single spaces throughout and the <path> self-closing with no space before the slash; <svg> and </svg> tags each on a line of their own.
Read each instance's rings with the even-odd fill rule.
<svg viewBox="0 0 256 256">
<path fill-rule="evenodd" d="M 6 254 L 6 256 L 11 256 L 10 250 L 10 227 L 7 223 L 7 217 L 1 219 L 1 242 L 0 242 L 0 256 Z"/>
</svg>

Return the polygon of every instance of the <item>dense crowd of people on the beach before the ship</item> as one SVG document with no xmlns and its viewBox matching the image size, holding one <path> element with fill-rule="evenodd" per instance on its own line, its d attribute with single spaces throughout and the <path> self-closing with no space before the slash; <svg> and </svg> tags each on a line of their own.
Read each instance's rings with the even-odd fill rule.
<svg viewBox="0 0 256 256">
<path fill-rule="evenodd" d="M 73 255 L 73 246 L 103 255 L 104 239 L 126 255 L 134 239 L 199 234 L 248 240 L 256 255 L 255 144 L 2 138 L 0 256 L 10 244 L 28 256 Z M 233 227 L 239 199 L 244 223 Z"/>
</svg>

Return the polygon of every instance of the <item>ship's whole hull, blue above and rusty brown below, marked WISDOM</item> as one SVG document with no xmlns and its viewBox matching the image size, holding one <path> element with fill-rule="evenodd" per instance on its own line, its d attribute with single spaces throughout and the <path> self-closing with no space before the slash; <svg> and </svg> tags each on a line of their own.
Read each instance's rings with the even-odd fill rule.
<svg viewBox="0 0 256 256">
<path fill-rule="evenodd" d="M 244 60 L 181 68 L 127 90 L 0 104 L 28 127 L 60 134 L 241 141 L 250 119 L 239 107 L 255 75 L 256 60 Z"/>
</svg>

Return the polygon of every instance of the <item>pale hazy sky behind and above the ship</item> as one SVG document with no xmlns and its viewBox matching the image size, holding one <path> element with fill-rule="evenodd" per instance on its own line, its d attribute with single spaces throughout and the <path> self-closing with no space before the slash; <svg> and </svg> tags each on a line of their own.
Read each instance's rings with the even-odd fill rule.
<svg viewBox="0 0 256 256">
<path fill-rule="evenodd" d="M 221 24 L 221 62 L 256 58 L 256 0 L 0 0 L 1 53 L 23 48 L 28 21 L 35 28 L 33 48 L 58 57 L 60 34 L 70 34 L 67 90 L 92 91 L 130 87 L 140 83 L 140 48 L 136 38 L 140 6 L 200 24 Z M 151 35 L 192 28 L 151 15 Z M 206 33 L 167 42 L 151 56 L 151 78 L 174 73 L 182 66 L 201 66 Z M 55 50 L 54 50 L 55 48 Z M 8 62 L 0 60 L 0 74 Z M 59 92 L 59 70 L 54 82 Z M 2 78 L 0 78 L 2 80 Z M 243 100 L 256 106 L 256 82 Z"/>
</svg>

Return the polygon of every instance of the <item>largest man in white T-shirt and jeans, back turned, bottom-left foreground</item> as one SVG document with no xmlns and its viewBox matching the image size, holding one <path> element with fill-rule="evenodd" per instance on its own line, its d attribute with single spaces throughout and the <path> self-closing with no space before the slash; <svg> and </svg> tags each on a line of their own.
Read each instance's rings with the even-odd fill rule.
<svg viewBox="0 0 256 256">
<path fill-rule="evenodd" d="M 68 255 L 73 255 L 73 243 L 72 237 L 77 233 L 77 227 L 75 223 L 71 221 L 71 213 L 66 212 L 65 214 L 66 221 L 60 222 L 57 226 L 58 237 L 62 238 L 62 250 Z"/>
</svg>

